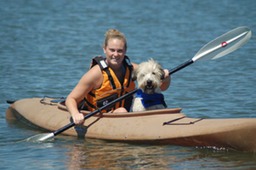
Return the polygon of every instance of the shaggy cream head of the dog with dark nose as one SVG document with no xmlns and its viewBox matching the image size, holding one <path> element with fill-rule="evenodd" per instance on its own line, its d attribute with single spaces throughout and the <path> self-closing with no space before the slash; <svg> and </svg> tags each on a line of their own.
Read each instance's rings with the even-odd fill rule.
<svg viewBox="0 0 256 170">
<path fill-rule="evenodd" d="M 160 64 L 153 59 L 138 65 L 134 72 L 139 88 L 147 94 L 160 91 L 161 80 L 164 77 L 164 70 Z"/>
</svg>

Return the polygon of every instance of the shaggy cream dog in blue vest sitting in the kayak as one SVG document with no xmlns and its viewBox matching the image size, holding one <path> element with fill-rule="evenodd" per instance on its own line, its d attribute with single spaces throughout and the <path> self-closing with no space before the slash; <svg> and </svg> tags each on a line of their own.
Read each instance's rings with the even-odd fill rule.
<svg viewBox="0 0 256 170">
<path fill-rule="evenodd" d="M 131 110 L 145 111 L 166 108 L 164 96 L 161 94 L 161 81 L 164 70 L 159 63 L 150 59 L 138 65 L 133 78 L 137 80 L 138 91 Z"/>
</svg>

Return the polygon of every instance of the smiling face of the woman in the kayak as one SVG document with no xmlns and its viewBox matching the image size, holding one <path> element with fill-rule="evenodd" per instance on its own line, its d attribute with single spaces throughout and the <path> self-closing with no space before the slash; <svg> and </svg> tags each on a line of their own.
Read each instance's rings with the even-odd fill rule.
<svg viewBox="0 0 256 170">
<path fill-rule="evenodd" d="M 109 39 L 103 51 L 106 54 L 107 63 L 110 67 L 119 68 L 122 65 L 126 53 L 123 40 L 118 38 Z"/>
</svg>

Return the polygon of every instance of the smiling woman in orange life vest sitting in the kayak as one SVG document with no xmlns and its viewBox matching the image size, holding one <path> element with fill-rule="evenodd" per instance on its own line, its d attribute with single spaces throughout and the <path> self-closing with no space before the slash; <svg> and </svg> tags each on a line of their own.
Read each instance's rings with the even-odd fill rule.
<svg viewBox="0 0 256 170">
<path fill-rule="evenodd" d="M 88 110 L 92 111 L 104 105 L 104 102 L 111 101 L 121 95 L 135 89 L 132 81 L 132 70 L 137 64 L 130 63 L 125 56 L 127 42 L 123 33 L 110 29 L 105 34 L 103 51 L 106 58 L 95 58 L 91 69 L 83 75 L 76 87 L 68 95 L 66 106 L 75 124 L 84 122 L 84 115 L 79 112 L 78 105 L 85 100 Z M 162 90 L 166 90 L 170 84 L 168 70 L 165 70 L 168 77 L 163 81 Z M 131 106 L 132 97 L 117 102 L 115 106 L 106 111 L 127 112 Z"/>
</svg>

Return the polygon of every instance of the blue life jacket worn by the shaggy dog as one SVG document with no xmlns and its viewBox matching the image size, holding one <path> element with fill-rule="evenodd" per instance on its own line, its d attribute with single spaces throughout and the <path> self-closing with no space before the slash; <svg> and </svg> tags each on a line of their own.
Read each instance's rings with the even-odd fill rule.
<svg viewBox="0 0 256 170">
<path fill-rule="evenodd" d="M 167 107 L 164 101 L 164 95 L 161 93 L 146 94 L 143 93 L 141 89 L 138 89 L 138 91 L 136 92 L 136 97 L 142 98 L 141 102 L 145 108 L 159 104 L 164 105 L 165 108 Z"/>
</svg>

